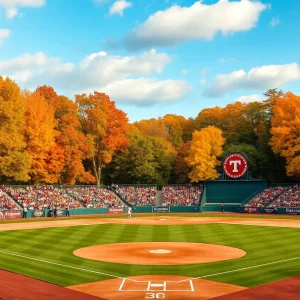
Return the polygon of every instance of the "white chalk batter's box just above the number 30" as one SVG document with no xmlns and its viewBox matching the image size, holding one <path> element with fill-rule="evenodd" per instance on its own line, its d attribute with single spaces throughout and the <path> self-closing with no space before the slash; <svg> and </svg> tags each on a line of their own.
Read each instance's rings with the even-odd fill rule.
<svg viewBox="0 0 300 300">
<path fill-rule="evenodd" d="M 119 291 L 120 292 L 194 292 L 194 285 L 193 285 L 193 280 L 192 279 L 186 279 L 186 288 L 181 288 L 181 289 L 176 289 L 175 287 L 169 287 L 168 283 L 172 283 L 172 286 L 174 284 L 179 284 L 182 282 L 179 281 L 162 281 L 161 283 L 157 283 L 157 281 L 150 281 L 150 280 L 134 280 L 135 283 L 135 288 L 126 288 L 126 282 L 132 282 L 131 279 L 128 278 L 123 278 L 122 283 L 120 285 Z M 143 283 L 144 285 L 142 286 L 141 289 L 138 289 L 139 284 Z M 132 285 L 132 284 L 131 284 Z"/>
</svg>

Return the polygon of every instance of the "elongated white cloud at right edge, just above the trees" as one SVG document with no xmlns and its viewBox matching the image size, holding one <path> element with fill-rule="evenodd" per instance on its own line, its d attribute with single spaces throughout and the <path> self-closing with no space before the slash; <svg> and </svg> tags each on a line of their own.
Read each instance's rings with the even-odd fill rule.
<svg viewBox="0 0 300 300">
<path fill-rule="evenodd" d="M 296 63 L 287 65 L 268 65 L 228 74 L 220 74 L 206 89 L 210 97 L 222 96 L 228 92 L 240 89 L 269 89 L 277 88 L 290 81 L 300 80 L 300 69 Z"/>
</svg>

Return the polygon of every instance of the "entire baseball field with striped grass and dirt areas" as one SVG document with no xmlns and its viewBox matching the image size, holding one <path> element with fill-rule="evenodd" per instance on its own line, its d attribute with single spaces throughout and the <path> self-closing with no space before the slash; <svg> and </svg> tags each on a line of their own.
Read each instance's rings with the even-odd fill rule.
<svg viewBox="0 0 300 300">
<path fill-rule="evenodd" d="M 0 245 L 5 300 L 300 299 L 299 217 L 1 221 Z"/>
</svg>

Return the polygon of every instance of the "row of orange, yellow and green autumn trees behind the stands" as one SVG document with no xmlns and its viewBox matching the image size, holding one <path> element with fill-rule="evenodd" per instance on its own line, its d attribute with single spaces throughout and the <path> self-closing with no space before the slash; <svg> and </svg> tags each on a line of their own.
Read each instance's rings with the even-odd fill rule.
<svg viewBox="0 0 300 300">
<path fill-rule="evenodd" d="M 6 184 L 170 184 L 218 178 L 244 152 L 253 177 L 300 179 L 300 97 L 270 89 L 263 102 L 129 123 L 108 95 L 72 101 L 50 86 L 21 90 L 0 76 L 0 179 Z"/>
</svg>

